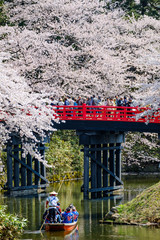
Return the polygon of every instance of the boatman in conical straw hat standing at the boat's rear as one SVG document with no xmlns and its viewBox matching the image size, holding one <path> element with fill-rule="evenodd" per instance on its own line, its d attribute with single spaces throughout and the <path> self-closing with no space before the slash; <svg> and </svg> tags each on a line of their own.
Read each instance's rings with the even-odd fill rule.
<svg viewBox="0 0 160 240">
<path fill-rule="evenodd" d="M 58 197 L 55 191 L 49 193 L 49 197 L 46 200 L 47 219 L 51 222 L 61 222 L 61 213 L 58 209 Z M 45 214 L 44 214 L 45 215 Z"/>
</svg>

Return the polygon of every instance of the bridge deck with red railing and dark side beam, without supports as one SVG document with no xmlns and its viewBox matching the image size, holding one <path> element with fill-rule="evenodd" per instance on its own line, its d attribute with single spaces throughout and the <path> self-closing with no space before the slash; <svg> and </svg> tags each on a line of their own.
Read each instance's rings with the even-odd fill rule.
<svg viewBox="0 0 160 240">
<path fill-rule="evenodd" d="M 160 133 L 160 109 L 146 114 L 147 108 L 114 106 L 54 106 L 57 129 L 83 131 L 139 131 Z M 136 119 L 137 115 L 140 115 Z M 65 120 L 65 122 L 63 122 Z"/>
</svg>

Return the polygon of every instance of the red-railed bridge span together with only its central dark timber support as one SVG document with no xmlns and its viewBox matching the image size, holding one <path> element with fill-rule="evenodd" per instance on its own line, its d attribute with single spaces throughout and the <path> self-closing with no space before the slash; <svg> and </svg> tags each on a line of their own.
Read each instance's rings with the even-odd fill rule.
<svg viewBox="0 0 160 240">
<path fill-rule="evenodd" d="M 84 146 L 84 198 L 112 196 L 122 188 L 121 144 L 125 132 L 153 132 L 160 137 L 160 109 L 143 107 L 54 106 L 57 129 L 76 129 Z M 147 112 L 148 110 L 148 112 Z M 64 120 L 64 121 L 63 121 Z"/>
</svg>

